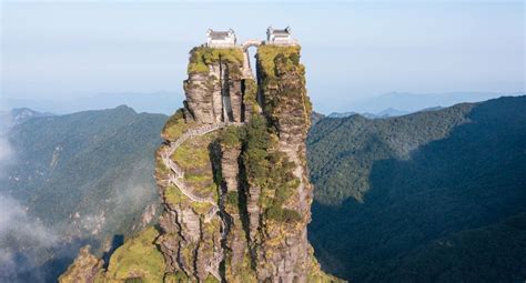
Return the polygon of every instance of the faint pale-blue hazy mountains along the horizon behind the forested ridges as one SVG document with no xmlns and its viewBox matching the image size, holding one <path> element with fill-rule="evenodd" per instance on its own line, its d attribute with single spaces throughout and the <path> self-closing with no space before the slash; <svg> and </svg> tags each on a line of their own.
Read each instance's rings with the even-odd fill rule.
<svg viewBox="0 0 526 283">
<path fill-rule="evenodd" d="M 337 104 L 337 109 L 344 109 L 341 114 L 334 112 L 333 118 L 348 117 L 361 113 L 367 118 L 396 117 L 421 111 L 427 108 L 451 107 L 461 102 L 478 102 L 502 95 L 522 95 L 523 93 L 497 93 L 497 92 L 447 92 L 447 93 L 408 93 L 388 92 L 377 97 L 357 100 L 352 103 Z M 84 97 L 72 95 L 71 99 L 58 98 L 45 99 L 18 99 L 7 98 L 3 107 L 29 108 L 41 112 L 55 114 L 68 114 L 87 110 L 112 109 L 127 104 L 138 112 L 172 114 L 173 109 L 182 105 L 183 94 L 173 91 L 158 91 L 151 93 L 117 92 L 87 94 Z"/>
</svg>

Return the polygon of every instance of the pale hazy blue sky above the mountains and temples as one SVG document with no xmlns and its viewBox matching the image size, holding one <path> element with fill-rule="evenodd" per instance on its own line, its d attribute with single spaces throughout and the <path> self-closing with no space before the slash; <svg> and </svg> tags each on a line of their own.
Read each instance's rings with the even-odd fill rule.
<svg viewBox="0 0 526 283">
<path fill-rule="evenodd" d="M 3 1 L 1 95 L 181 94 L 188 51 L 209 27 L 244 40 L 263 39 L 269 24 L 292 27 L 323 112 L 390 91 L 524 91 L 524 9 L 523 1 Z"/>
</svg>

